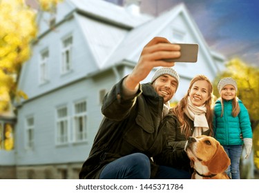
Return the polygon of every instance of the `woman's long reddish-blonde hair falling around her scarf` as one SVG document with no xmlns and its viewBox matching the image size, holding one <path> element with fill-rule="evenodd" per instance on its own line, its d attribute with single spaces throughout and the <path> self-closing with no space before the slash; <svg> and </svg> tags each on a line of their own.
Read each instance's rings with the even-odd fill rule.
<svg viewBox="0 0 259 193">
<path fill-rule="evenodd" d="M 178 117 L 178 121 L 180 122 L 180 129 L 181 132 L 185 135 L 186 139 L 191 136 L 191 125 L 189 125 L 189 122 L 187 121 L 189 118 L 187 116 L 184 115 L 184 109 L 187 105 L 187 100 L 188 100 L 188 96 L 189 96 L 189 92 L 193 86 L 193 84 L 196 81 L 207 81 L 209 83 L 209 99 L 207 101 L 205 101 L 205 107 L 207 108 L 207 112 L 206 112 L 206 119 L 207 122 L 209 124 L 209 129 L 211 130 L 211 135 L 213 133 L 212 130 L 212 119 L 213 119 L 213 110 L 212 110 L 212 102 L 213 102 L 213 86 L 211 84 L 211 81 L 209 81 L 209 79 L 200 74 L 196 77 L 194 77 L 191 80 L 191 83 L 189 85 L 189 89 L 188 92 L 184 95 L 184 97 L 180 100 L 180 102 L 178 103 L 178 105 L 175 106 L 175 108 L 173 108 L 171 111 L 173 111 L 173 113 L 175 114 L 175 116 Z"/>
</svg>

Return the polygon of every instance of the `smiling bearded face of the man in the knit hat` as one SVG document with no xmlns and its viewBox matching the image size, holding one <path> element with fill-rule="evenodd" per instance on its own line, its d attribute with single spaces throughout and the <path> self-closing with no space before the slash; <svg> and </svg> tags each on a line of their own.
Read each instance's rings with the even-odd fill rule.
<svg viewBox="0 0 259 193">
<path fill-rule="evenodd" d="M 155 92 L 164 98 L 164 103 L 172 99 L 177 86 L 178 82 L 176 79 L 168 74 L 163 74 L 153 82 L 153 88 L 155 89 Z"/>
</svg>

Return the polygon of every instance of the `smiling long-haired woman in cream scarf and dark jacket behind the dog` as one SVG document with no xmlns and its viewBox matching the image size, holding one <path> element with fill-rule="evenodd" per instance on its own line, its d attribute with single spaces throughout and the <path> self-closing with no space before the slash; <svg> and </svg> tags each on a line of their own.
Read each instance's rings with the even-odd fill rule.
<svg viewBox="0 0 259 193">
<path fill-rule="evenodd" d="M 163 153 L 155 157 L 156 163 L 187 170 L 190 174 L 193 172 L 190 160 L 184 152 L 184 146 L 189 136 L 201 134 L 211 136 L 213 130 L 212 96 L 213 87 L 207 77 L 198 75 L 191 80 L 185 96 L 163 120 L 167 122 L 169 139 Z M 164 155 L 172 151 L 171 159 L 166 159 Z"/>
</svg>

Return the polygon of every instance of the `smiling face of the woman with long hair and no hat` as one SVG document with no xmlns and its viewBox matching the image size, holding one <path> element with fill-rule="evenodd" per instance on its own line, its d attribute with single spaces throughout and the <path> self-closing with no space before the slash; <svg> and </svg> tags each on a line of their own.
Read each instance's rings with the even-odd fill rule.
<svg viewBox="0 0 259 193">
<path fill-rule="evenodd" d="M 204 105 L 204 103 L 209 99 L 209 83 L 207 81 L 195 81 L 189 90 L 189 96 L 191 103 L 195 106 Z"/>
</svg>

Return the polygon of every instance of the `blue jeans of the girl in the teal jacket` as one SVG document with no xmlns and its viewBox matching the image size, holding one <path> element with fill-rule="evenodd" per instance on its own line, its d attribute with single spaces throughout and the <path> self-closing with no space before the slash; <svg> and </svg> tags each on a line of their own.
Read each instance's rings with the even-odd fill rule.
<svg viewBox="0 0 259 193">
<path fill-rule="evenodd" d="M 242 154 L 242 145 L 222 145 L 227 152 L 231 165 L 226 170 L 226 173 L 230 175 L 231 179 L 240 179 L 239 164 Z"/>
</svg>

